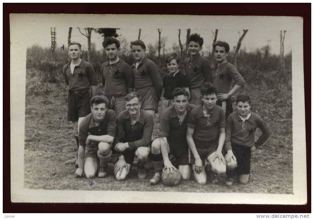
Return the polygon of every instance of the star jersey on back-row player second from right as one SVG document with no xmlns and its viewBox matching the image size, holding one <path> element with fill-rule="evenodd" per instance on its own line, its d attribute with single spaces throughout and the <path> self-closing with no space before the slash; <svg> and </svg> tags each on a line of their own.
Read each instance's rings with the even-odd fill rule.
<svg viewBox="0 0 314 219">
<path fill-rule="evenodd" d="M 184 60 L 184 74 L 190 88 L 201 87 L 204 82 L 211 82 L 211 69 L 209 61 L 198 54 L 195 58 L 187 57 Z"/>
</svg>

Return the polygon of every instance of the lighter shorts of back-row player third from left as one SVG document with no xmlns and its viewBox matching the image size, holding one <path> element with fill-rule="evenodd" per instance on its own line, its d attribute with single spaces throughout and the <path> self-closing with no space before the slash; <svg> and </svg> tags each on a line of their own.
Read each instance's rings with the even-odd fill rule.
<svg viewBox="0 0 314 219">
<path fill-rule="evenodd" d="M 147 86 L 139 89 L 135 89 L 136 92 L 142 97 L 142 107 L 143 110 L 155 110 L 158 112 L 158 100 L 154 86 Z"/>
</svg>

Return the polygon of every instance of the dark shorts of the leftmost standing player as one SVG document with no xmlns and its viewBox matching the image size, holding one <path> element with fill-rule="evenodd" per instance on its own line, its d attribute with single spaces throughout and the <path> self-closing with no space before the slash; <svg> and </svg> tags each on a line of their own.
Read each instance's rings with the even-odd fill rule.
<svg viewBox="0 0 314 219">
<path fill-rule="evenodd" d="M 68 94 L 68 121 L 77 121 L 79 117 L 85 117 L 90 113 L 89 89 L 70 91 Z"/>
</svg>

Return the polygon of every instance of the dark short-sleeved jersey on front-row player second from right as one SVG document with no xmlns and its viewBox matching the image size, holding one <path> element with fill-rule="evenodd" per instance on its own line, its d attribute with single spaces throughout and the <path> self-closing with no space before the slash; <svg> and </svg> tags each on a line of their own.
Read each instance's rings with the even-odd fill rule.
<svg viewBox="0 0 314 219">
<path fill-rule="evenodd" d="M 192 109 L 187 126 L 194 129 L 193 140 L 201 149 L 217 146 L 220 128 L 226 126 L 225 112 L 215 105 L 210 116 L 205 116 L 203 106 Z"/>
</svg>

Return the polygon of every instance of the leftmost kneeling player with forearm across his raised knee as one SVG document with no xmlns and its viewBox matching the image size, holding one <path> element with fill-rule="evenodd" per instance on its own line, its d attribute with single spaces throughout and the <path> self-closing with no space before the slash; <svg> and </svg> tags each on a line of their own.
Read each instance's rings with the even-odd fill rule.
<svg viewBox="0 0 314 219">
<path fill-rule="evenodd" d="M 108 161 L 116 135 L 116 113 L 107 109 L 106 96 L 94 96 L 90 100 L 92 113 L 87 115 L 79 128 L 78 169 L 76 177 L 83 175 L 87 178 L 96 175 L 98 163 L 98 177 L 105 177 L 108 171 Z"/>
</svg>

